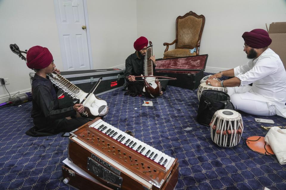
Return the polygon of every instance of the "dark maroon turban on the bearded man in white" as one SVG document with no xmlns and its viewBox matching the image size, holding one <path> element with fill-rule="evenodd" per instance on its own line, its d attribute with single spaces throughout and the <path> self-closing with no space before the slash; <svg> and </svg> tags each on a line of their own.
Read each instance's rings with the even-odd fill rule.
<svg viewBox="0 0 286 190">
<path fill-rule="evenodd" d="M 244 32 L 242 37 L 245 44 L 252 48 L 267 47 L 272 42 L 268 32 L 263 29 L 254 29 L 250 32 Z"/>
</svg>

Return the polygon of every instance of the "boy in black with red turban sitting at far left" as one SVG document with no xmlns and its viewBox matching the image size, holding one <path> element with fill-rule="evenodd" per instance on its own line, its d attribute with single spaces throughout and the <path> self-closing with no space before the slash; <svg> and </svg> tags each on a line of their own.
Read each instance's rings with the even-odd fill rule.
<svg viewBox="0 0 286 190">
<path fill-rule="evenodd" d="M 86 118 L 66 119 L 84 111 L 82 104 L 61 109 L 57 99 L 57 88 L 54 88 L 49 75 L 55 68 L 52 54 L 48 48 L 41 46 L 31 47 L 27 52 L 27 66 L 34 69 L 36 74 L 32 81 L 32 113 L 35 126 L 26 134 L 39 137 L 58 134 L 60 132 L 71 132 L 86 124 Z"/>
</svg>

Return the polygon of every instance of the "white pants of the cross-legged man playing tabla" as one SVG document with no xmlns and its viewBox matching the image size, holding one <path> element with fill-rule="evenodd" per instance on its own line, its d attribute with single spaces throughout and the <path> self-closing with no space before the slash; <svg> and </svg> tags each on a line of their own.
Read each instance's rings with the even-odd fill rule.
<svg viewBox="0 0 286 190">
<path fill-rule="evenodd" d="M 275 105 L 270 105 L 266 102 L 258 101 L 259 96 L 247 93 L 249 99 L 243 99 L 246 92 L 252 91 L 252 86 L 242 86 L 242 87 L 227 87 L 227 91 L 230 96 L 230 101 L 234 105 L 234 109 L 241 110 L 245 113 L 253 115 L 271 116 L 276 115 Z"/>
</svg>

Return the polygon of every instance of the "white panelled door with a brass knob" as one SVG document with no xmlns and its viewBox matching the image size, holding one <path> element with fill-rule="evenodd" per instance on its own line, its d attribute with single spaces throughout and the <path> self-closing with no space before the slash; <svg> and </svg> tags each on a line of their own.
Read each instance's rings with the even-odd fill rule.
<svg viewBox="0 0 286 190">
<path fill-rule="evenodd" d="M 64 71 L 92 68 L 83 1 L 54 0 Z"/>
</svg>

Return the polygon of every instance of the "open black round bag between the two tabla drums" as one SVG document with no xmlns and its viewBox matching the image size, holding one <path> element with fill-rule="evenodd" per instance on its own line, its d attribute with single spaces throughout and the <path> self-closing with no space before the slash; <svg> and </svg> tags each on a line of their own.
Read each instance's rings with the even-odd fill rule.
<svg viewBox="0 0 286 190">
<path fill-rule="evenodd" d="M 234 110 L 230 96 L 222 91 L 204 90 L 200 96 L 197 121 L 201 125 L 209 126 L 212 116 L 217 110 Z"/>
</svg>

